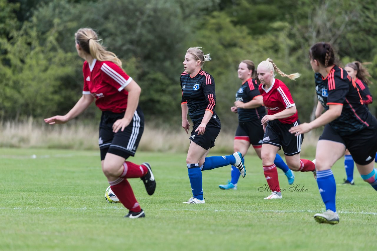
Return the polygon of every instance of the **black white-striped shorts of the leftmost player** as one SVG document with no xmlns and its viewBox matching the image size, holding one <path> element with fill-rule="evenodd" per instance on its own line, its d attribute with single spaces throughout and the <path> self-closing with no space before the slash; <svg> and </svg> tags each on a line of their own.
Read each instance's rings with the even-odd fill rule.
<svg viewBox="0 0 377 251">
<path fill-rule="evenodd" d="M 138 107 L 133 114 L 130 124 L 124 128 L 122 132 L 119 130 L 114 133 L 113 123 L 124 117 L 124 113 L 113 113 L 111 111 L 103 111 L 100 122 L 100 135 L 98 145 L 101 151 L 101 160 L 105 159 L 105 155 L 109 152 L 124 158 L 134 156 L 138 148 L 141 135 L 144 131 L 144 114 Z"/>
</svg>

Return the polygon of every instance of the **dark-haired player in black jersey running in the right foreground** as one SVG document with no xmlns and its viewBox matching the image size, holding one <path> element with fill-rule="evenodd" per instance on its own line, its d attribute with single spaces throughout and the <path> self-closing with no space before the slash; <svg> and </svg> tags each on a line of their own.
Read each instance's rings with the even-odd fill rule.
<svg viewBox="0 0 377 251">
<path fill-rule="evenodd" d="M 336 184 L 331 167 L 347 148 L 364 181 L 377 190 L 374 157 L 377 152 L 377 120 L 369 113 L 359 93 L 359 87 L 343 68 L 334 63 L 334 50 L 328 43 L 316 43 L 310 48 L 310 64 L 322 75 L 316 82 L 316 93 L 325 112 L 310 123 L 292 127 L 292 134 L 303 134 L 325 126 L 316 149 L 317 184 L 326 205 L 324 213 L 314 219 L 319 223 L 337 224 Z"/>
</svg>

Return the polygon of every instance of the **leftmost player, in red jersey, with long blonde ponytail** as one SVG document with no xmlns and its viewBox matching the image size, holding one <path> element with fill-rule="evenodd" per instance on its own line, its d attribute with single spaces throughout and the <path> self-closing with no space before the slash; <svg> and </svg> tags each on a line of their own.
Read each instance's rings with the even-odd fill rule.
<svg viewBox="0 0 377 251">
<path fill-rule="evenodd" d="M 66 123 L 95 100 L 102 111 L 98 144 L 103 173 L 129 210 L 125 217 L 145 217 L 127 178 L 141 178 L 147 193 L 152 195 L 156 188 L 154 175 L 148 163 L 126 161 L 135 155 L 144 130 L 144 115 L 138 106 L 141 88 L 123 71 L 120 59 L 99 43 L 101 40 L 92 29 L 79 29 L 75 41 L 78 55 L 85 59 L 83 96 L 66 115 L 50 117 L 44 122 Z"/>
</svg>

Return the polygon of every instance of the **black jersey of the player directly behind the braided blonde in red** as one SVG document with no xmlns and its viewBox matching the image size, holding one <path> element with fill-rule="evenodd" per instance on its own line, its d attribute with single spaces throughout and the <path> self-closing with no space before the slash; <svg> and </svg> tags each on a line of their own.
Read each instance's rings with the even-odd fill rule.
<svg viewBox="0 0 377 251">
<path fill-rule="evenodd" d="M 242 83 L 241 87 L 236 93 L 236 101 L 242 101 L 244 103 L 250 102 L 257 96 L 261 96 L 258 90 L 258 84 L 255 79 L 249 78 L 247 81 Z M 266 110 L 264 106 L 259 106 L 252 109 L 238 108 L 238 121 L 247 122 L 251 120 L 259 119 L 261 120 L 263 116 L 266 115 Z"/>
</svg>

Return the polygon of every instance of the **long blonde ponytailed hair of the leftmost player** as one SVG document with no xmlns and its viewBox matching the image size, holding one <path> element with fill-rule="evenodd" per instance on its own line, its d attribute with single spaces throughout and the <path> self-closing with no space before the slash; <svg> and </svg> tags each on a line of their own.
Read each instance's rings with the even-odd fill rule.
<svg viewBox="0 0 377 251">
<path fill-rule="evenodd" d="M 93 58 L 99 61 L 111 61 L 114 64 L 122 67 L 122 61 L 115 55 L 115 53 L 109 52 L 99 42 L 102 39 L 98 39 L 97 33 L 90 28 L 78 29 L 75 33 L 76 43 L 84 50 L 84 52 L 90 54 Z"/>
</svg>

